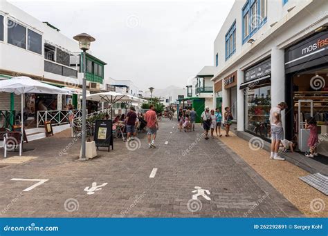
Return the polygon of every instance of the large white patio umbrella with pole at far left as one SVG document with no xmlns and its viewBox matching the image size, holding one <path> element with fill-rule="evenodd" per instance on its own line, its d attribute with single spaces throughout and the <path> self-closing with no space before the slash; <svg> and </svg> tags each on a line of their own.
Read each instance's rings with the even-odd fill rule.
<svg viewBox="0 0 328 236">
<path fill-rule="evenodd" d="M 24 97 L 25 93 L 46 93 L 46 94 L 64 94 L 70 95 L 71 92 L 66 89 L 51 86 L 42 83 L 30 77 L 12 77 L 11 79 L 0 81 L 0 92 L 14 92 L 15 95 L 21 95 L 21 133 L 24 135 Z M 21 155 L 21 151 L 19 152 Z"/>
</svg>

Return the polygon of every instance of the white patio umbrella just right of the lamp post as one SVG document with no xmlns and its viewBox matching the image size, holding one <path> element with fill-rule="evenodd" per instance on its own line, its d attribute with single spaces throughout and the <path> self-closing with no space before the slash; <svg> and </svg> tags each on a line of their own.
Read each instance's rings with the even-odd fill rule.
<svg viewBox="0 0 328 236">
<path fill-rule="evenodd" d="M 118 101 L 133 101 L 131 99 L 130 95 L 124 95 L 119 92 L 98 92 L 94 93 L 92 95 L 87 95 L 86 100 L 91 100 L 91 101 L 107 101 L 109 104 L 111 104 L 111 119 L 113 119 L 113 104 L 116 104 Z"/>
</svg>

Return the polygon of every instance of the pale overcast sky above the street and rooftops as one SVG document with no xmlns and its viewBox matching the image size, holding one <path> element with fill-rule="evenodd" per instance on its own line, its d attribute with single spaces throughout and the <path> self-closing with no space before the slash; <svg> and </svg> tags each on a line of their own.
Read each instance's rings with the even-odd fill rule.
<svg viewBox="0 0 328 236">
<path fill-rule="evenodd" d="M 131 79 L 141 90 L 183 87 L 213 65 L 213 42 L 233 6 L 225 1 L 10 1 L 67 37 L 86 32 L 108 63 L 105 77 Z"/>
</svg>

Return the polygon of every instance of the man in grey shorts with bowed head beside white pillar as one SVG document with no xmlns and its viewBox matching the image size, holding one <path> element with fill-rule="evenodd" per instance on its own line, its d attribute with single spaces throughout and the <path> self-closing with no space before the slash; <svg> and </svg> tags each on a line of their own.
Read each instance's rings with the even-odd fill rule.
<svg viewBox="0 0 328 236">
<path fill-rule="evenodd" d="M 280 142 L 284 139 L 284 129 L 282 128 L 282 110 L 288 108 L 283 101 L 276 107 L 270 110 L 270 125 L 271 125 L 271 156 L 270 159 L 284 161 L 283 157 L 278 156 Z"/>
</svg>

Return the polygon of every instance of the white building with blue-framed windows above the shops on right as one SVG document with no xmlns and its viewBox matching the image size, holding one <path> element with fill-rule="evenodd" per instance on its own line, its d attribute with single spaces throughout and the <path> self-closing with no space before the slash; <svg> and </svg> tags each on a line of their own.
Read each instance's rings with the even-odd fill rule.
<svg viewBox="0 0 328 236">
<path fill-rule="evenodd" d="M 291 140 L 311 113 L 305 103 L 298 117 L 298 100 L 312 99 L 313 116 L 327 132 L 327 24 L 325 0 L 235 1 L 214 42 L 212 81 L 222 108 L 232 108 L 237 130 L 269 140 L 269 111 L 286 101 L 282 117 Z"/>
</svg>

